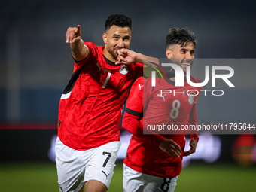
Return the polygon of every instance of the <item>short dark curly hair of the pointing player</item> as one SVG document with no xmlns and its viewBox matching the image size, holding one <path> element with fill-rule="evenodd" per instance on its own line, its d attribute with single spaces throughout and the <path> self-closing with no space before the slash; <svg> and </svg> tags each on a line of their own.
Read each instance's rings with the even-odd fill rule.
<svg viewBox="0 0 256 192">
<path fill-rule="evenodd" d="M 130 27 L 132 29 L 132 19 L 123 14 L 112 14 L 105 21 L 105 32 L 111 28 L 111 26 Z"/>
</svg>

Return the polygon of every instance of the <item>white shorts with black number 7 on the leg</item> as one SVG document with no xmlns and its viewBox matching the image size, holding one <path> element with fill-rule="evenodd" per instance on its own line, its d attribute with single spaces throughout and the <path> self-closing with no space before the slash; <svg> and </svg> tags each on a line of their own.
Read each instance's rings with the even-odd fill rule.
<svg viewBox="0 0 256 192">
<path fill-rule="evenodd" d="M 109 187 L 120 145 L 120 142 L 109 142 L 78 151 L 69 148 L 57 137 L 55 151 L 59 191 L 77 192 L 89 180 L 101 181 Z"/>
</svg>

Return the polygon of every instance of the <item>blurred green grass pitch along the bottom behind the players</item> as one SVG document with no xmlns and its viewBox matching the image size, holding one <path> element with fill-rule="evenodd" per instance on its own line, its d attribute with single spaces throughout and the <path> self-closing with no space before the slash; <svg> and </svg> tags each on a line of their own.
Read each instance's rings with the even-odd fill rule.
<svg viewBox="0 0 256 192">
<path fill-rule="evenodd" d="M 123 165 L 117 163 L 108 192 L 122 192 Z M 181 171 L 175 192 L 255 191 L 256 167 L 197 164 Z M 0 163 L 1 192 L 59 191 L 54 163 Z"/>
</svg>

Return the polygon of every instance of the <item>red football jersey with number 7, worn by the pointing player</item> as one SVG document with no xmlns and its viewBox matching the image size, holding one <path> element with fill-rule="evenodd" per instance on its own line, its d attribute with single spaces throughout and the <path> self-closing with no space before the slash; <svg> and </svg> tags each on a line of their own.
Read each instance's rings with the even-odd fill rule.
<svg viewBox="0 0 256 192">
<path fill-rule="evenodd" d="M 76 150 L 120 140 L 123 101 L 133 81 L 142 75 L 143 66 L 116 66 L 103 56 L 104 47 L 84 44 L 90 53 L 75 62 L 74 73 L 59 102 L 59 139 Z"/>
</svg>

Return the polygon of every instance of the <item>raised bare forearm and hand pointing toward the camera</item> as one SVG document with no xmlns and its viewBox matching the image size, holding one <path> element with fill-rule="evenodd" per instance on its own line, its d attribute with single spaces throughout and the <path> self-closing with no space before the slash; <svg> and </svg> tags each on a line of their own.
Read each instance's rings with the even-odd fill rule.
<svg viewBox="0 0 256 192">
<path fill-rule="evenodd" d="M 67 29 L 66 43 L 70 44 L 72 56 L 75 61 L 81 61 L 88 56 L 89 49 L 84 45 L 84 41 L 81 39 L 80 25 L 77 27 L 69 27 L 69 29 Z"/>
</svg>

